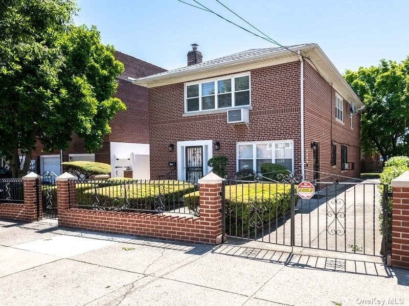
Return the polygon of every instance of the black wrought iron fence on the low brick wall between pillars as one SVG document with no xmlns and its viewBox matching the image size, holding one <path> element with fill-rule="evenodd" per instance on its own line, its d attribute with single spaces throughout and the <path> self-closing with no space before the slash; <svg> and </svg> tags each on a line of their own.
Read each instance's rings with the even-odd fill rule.
<svg viewBox="0 0 409 306">
<path fill-rule="evenodd" d="M 70 208 L 199 215 L 198 185 L 177 180 L 70 180 Z"/>
</svg>

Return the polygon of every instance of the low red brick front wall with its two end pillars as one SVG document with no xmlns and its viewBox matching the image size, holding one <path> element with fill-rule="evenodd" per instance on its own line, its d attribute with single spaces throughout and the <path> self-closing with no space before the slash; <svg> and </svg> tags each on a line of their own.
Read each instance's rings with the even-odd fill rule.
<svg viewBox="0 0 409 306">
<path fill-rule="evenodd" d="M 200 185 L 200 217 L 69 208 L 67 181 L 57 180 L 57 186 L 60 226 L 165 240 L 211 244 L 220 242 L 221 183 Z"/>
</svg>

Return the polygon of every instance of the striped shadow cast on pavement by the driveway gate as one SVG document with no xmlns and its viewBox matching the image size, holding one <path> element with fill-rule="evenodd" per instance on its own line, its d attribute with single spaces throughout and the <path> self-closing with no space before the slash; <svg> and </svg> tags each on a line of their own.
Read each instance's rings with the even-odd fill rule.
<svg viewBox="0 0 409 306">
<path fill-rule="evenodd" d="M 213 249 L 213 253 L 226 256 L 246 258 L 275 264 L 283 264 L 290 268 L 314 269 L 333 272 L 344 272 L 380 277 L 394 277 L 393 272 L 399 269 L 391 269 L 387 265 L 369 260 L 339 259 L 323 256 L 313 256 L 306 254 L 295 254 L 286 251 L 277 251 L 271 249 L 244 247 L 237 245 L 222 244 Z M 403 270 L 401 270 L 403 271 Z M 406 277 L 406 286 L 409 282 L 408 273 L 396 273 L 396 277 Z M 399 274 L 399 277 L 398 277 Z M 403 281 L 404 282 L 404 281 Z"/>
</svg>

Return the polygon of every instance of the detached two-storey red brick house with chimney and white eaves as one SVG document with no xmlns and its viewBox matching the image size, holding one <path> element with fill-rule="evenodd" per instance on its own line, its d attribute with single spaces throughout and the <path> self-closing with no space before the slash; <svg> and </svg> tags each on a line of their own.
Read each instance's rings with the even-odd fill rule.
<svg viewBox="0 0 409 306">
<path fill-rule="evenodd" d="M 188 66 L 133 81 L 149 89 L 151 178 L 195 180 L 217 155 L 229 177 L 265 162 L 306 180 L 359 175 L 363 104 L 317 44 L 207 62 L 192 46 Z"/>
</svg>

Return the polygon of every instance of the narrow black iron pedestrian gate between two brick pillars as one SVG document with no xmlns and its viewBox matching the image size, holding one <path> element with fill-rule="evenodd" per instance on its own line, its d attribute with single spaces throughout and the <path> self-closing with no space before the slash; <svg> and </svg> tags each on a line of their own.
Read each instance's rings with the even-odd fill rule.
<svg viewBox="0 0 409 306">
<path fill-rule="evenodd" d="M 37 218 L 57 219 L 57 184 L 54 172 L 45 172 L 36 179 Z M 40 214 L 40 205 L 42 214 Z"/>
</svg>

